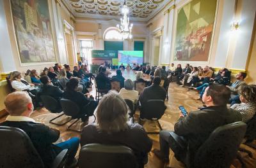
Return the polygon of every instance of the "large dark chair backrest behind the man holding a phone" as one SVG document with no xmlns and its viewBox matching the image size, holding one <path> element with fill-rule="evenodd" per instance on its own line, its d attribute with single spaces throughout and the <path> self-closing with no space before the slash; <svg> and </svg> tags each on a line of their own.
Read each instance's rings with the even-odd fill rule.
<svg viewBox="0 0 256 168">
<path fill-rule="evenodd" d="M 246 131 L 246 123 L 236 122 L 215 129 L 198 149 L 195 167 L 230 167 Z"/>
</svg>

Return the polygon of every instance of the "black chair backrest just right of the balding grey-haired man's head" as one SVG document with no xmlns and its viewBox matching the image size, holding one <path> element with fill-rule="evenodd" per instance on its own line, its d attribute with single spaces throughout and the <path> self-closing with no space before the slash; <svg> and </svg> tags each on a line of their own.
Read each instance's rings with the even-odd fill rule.
<svg viewBox="0 0 256 168">
<path fill-rule="evenodd" d="M 46 109 L 48 109 L 49 111 L 51 111 L 51 113 L 58 113 L 60 112 L 58 109 L 60 109 L 59 103 L 58 101 L 56 101 L 56 99 L 54 99 L 53 97 L 51 97 L 50 95 L 41 95 L 40 96 L 44 107 Z"/>
</svg>

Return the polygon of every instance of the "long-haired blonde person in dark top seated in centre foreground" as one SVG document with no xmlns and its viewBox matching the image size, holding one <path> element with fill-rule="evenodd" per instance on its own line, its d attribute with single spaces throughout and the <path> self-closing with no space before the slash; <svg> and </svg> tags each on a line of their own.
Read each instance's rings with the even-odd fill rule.
<svg viewBox="0 0 256 168">
<path fill-rule="evenodd" d="M 81 146 L 90 143 L 124 145 L 134 151 L 140 167 L 147 164 L 152 140 L 141 125 L 127 123 L 128 109 L 124 99 L 115 91 L 110 91 L 99 102 L 96 113 L 97 125 L 84 127 Z"/>
</svg>

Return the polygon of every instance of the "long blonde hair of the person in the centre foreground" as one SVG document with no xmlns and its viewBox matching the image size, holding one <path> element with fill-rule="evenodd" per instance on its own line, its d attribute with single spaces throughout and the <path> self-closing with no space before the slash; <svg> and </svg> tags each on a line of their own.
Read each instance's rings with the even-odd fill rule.
<svg viewBox="0 0 256 168">
<path fill-rule="evenodd" d="M 109 91 L 97 107 L 98 129 L 109 134 L 127 129 L 127 111 L 124 99 L 117 92 Z"/>
</svg>

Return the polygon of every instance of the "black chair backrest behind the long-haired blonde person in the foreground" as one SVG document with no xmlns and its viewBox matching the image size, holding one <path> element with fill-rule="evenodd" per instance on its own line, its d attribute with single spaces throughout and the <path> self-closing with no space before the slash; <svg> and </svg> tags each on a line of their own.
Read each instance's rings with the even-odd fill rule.
<svg viewBox="0 0 256 168">
<path fill-rule="evenodd" d="M 79 167 L 136 168 L 136 157 L 127 146 L 86 144 L 81 147 L 78 160 Z"/>
</svg>

